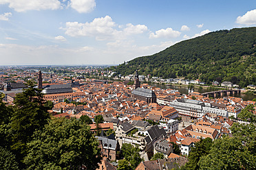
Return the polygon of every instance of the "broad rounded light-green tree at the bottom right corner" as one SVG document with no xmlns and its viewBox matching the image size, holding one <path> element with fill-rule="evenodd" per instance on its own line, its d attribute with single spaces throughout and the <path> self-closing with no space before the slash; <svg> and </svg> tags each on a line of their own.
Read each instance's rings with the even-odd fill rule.
<svg viewBox="0 0 256 170">
<path fill-rule="evenodd" d="M 255 169 L 255 153 L 252 153 L 241 138 L 224 136 L 211 147 L 211 154 L 202 156 L 200 169 Z"/>
</svg>

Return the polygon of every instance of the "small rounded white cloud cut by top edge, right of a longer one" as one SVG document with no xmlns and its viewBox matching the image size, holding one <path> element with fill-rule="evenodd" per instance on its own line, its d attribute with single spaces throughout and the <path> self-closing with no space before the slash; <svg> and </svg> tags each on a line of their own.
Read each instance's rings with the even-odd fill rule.
<svg viewBox="0 0 256 170">
<path fill-rule="evenodd" d="M 70 0 L 71 7 L 79 13 L 87 13 L 94 10 L 96 3 L 94 0 Z"/>
</svg>

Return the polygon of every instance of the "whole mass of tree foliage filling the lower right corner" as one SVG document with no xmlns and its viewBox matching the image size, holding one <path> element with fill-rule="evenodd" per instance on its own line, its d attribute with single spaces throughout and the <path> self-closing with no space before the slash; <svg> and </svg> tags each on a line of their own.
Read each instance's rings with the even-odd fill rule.
<svg viewBox="0 0 256 170">
<path fill-rule="evenodd" d="M 247 112 L 252 105 L 242 110 Z M 247 110 L 247 111 L 246 111 Z M 247 113 L 245 114 L 247 115 Z M 247 119 L 251 121 L 253 119 Z M 233 123 L 231 127 L 233 137 L 222 136 L 210 144 L 200 141 L 189 152 L 189 162 L 182 169 L 255 169 L 256 167 L 256 125 Z M 211 145 L 211 147 L 210 147 Z M 198 148 L 197 148 L 198 147 Z M 211 149 L 209 149 L 211 148 Z"/>
</svg>

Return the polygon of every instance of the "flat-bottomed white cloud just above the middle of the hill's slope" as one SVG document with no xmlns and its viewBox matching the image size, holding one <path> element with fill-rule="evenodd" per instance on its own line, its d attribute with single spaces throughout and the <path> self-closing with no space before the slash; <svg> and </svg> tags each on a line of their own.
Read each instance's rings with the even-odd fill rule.
<svg viewBox="0 0 256 170">
<path fill-rule="evenodd" d="M 167 29 L 156 31 L 156 34 L 152 32 L 149 38 L 176 38 L 178 36 L 180 36 L 180 32 L 174 31 L 171 27 L 168 27 Z"/>
</svg>

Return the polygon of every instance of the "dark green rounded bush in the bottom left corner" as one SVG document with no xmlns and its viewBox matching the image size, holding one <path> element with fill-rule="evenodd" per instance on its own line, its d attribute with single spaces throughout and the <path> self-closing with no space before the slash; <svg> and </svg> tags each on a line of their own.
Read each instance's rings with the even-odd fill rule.
<svg viewBox="0 0 256 170">
<path fill-rule="evenodd" d="M 0 146 L 0 169 L 19 169 L 14 154 Z"/>
</svg>

